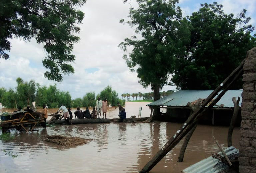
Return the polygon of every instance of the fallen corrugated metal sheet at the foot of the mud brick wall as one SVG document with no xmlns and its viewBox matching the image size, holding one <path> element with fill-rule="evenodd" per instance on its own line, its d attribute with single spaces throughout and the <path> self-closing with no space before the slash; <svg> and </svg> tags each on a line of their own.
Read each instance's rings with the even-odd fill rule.
<svg viewBox="0 0 256 173">
<path fill-rule="evenodd" d="M 226 153 L 226 155 L 229 157 L 230 160 L 232 160 L 230 158 L 231 155 L 238 156 L 239 154 L 239 151 L 233 146 L 230 146 L 224 149 L 224 152 Z M 219 152 L 218 154 L 220 154 L 223 157 L 223 154 L 221 152 Z M 221 166 L 218 166 L 218 164 L 220 164 L 219 159 L 213 158 L 212 156 L 210 156 L 204 160 L 201 160 L 200 162 L 195 163 L 194 165 L 187 167 L 182 172 L 183 173 L 220 173 L 220 172 L 223 173 L 223 170 L 229 169 L 229 166 L 226 164 L 221 164 Z"/>
</svg>

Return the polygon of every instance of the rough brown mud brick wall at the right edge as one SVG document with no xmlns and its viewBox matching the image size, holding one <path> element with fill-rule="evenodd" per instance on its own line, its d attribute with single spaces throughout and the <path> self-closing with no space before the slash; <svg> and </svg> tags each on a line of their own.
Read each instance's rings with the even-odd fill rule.
<svg viewBox="0 0 256 173">
<path fill-rule="evenodd" d="M 243 71 L 239 172 L 256 173 L 256 47 L 247 52 Z"/>
</svg>

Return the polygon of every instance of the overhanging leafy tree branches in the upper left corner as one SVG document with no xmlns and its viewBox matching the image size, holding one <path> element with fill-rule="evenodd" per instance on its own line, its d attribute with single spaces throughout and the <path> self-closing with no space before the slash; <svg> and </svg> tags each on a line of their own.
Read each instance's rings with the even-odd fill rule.
<svg viewBox="0 0 256 173">
<path fill-rule="evenodd" d="M 86 0 L 1 0 L 0 3 L 0 58 L 8 59 L 13 37 L 30 40 L 36 38 L 47 52 L 43 66 L 50 71 L 44 76 L 49 80 L 62 81 L 62 73 L 74 73 L 69 62 L 73 44 L 79 42 L 74 33 L 84 13 L 77 9 Z"/>
</svg>

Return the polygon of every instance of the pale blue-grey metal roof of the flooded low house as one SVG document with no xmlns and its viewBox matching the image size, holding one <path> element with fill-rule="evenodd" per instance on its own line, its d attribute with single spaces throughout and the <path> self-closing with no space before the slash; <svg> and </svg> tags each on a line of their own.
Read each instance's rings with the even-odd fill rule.
<svg viewBox="0 0 256 173">
<path fill-rule="evenodd" d="M 193 102 L 199 98 L 206 99 L 214 90 L 179 90 L 157 101 L 154 101 L 147 106 L 186 106 L 188 102 Z M 234 107 L 232 97 L 240 97 L 240 104 L 242 100 L 243 90 L 228 90 L 217 105 L 224 104 L 224 107 Z M 214 98 L 216 98 L 215 96 Z M 215 106 L 216 107 L 216 106 Z"/>
</svg>

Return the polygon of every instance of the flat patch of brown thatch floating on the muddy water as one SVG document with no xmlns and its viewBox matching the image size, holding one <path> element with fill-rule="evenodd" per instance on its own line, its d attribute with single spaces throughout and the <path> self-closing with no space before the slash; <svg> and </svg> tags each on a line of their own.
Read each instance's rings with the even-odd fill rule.
<svg viewBox="0 0 256 173">
<path fill-rule="evenodd" d="M 65 137 L 61 135 L 52 135 L 52 136 L 46 135 L 45 137 L 46 137 L 45 140 L 48 142 L 52 142 L 58 145 L 66 146 L 66 147 L 83 145 L 91 140 L 91 139 L 84 139 L 79 137 Z"/>
</svg>

